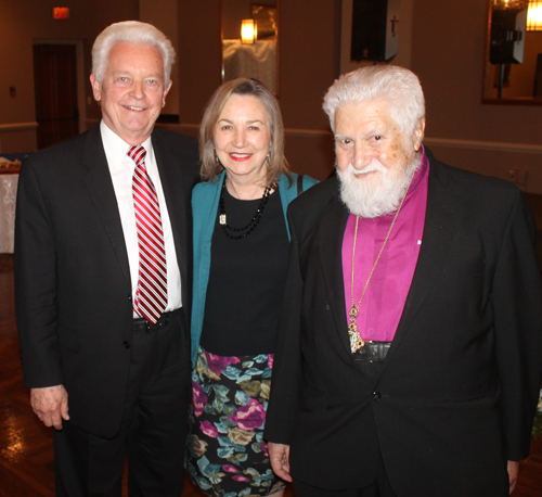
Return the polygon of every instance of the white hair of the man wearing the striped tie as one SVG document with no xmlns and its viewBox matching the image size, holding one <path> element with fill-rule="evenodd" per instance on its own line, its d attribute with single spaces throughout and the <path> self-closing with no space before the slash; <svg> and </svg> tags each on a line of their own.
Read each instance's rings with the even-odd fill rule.
<svg viewBox="0 0 542 497">
<path fill-rule="evenodd" d="M 140 23 L 139 21 L 124 21 L 112 24 L 98 35 L 92 46 L 92 73 L 94 73 L 100 84 L 103 82 L 111 50 L 115 44 L 124 41 L 144 43 L 158 49 L 164 61 L 164 86 L 169 84 L 171 66 L 175 62 L 175 49 L 171 41 L 152 24 Z"/>
</svg>

